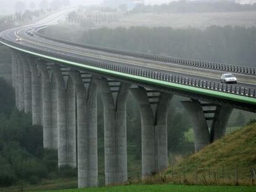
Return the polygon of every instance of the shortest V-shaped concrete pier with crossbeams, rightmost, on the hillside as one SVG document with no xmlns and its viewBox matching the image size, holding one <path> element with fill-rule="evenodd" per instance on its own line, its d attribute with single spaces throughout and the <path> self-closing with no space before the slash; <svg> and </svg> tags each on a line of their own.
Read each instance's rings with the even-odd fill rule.
<svg viewBox="0 0 256 192">
<path fill-rule="evenodd" d="M 182 104 L 186 108 L 194 128 L 195 152 L 224 136 L 229 116 L 233 110 L 232 107 L 216 106 L 209 103 L 202 104 L 197 100 L 182 101 Z M 207 110 L 203 107 L 211 107 L 211 109 Z M 213 117 L 205 117 L 205 114 L 214 115 Z M 207 123 L 209 120 L 211 121 L 210 131 Z"/>
</svg>

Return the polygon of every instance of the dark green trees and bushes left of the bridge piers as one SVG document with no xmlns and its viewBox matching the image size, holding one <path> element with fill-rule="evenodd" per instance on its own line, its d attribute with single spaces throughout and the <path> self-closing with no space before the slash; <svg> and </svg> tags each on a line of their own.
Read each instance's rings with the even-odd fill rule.
<svg viewBox="0 0 256 192">
<path fill-rule="evenodd" d="M 31 115 L 14 107 L 14 90 L 0 78 L 0 187 L 35 184 L 41 178 L 76 177 L 76 171 L 58 170 L 57 152 L 43 149 L 43 130 Z"/>
</svg>

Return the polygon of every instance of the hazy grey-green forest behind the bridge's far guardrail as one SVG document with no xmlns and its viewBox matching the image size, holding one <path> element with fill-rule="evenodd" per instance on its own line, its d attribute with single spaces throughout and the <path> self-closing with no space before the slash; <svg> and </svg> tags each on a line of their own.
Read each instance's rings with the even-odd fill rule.
<svg viewBox="0 0 256 192">
<path fill-rule="evenodd" d="M 256 60 L 256 27 L 211 26 L 205 30 L 171 27 L 100 28 L 85 31 L 75 41 L 250 67 L 255 67 Z"/>
</svg>

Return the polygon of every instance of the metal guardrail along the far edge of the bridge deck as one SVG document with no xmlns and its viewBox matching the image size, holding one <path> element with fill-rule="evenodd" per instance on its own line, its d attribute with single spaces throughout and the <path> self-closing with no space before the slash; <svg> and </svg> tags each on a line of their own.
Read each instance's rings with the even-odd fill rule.
<svg viewBox="0 0 256 192">
<path fill-rule="evenodd" d="M 148 59 L 151 61 L 160 61 L 160 62 L 166 62 L 171 64 L 186 65 L 186 66 L 198 67 L 203 69 L 221 70 L 225 72 L 242 73 L 246 75 L 256 75 L 256 68 L 253 68 L 253 67 L 242 67 L 237 65 L 219 64 L 219 63 L 213 63 L 213 62 L 197 61 L 192 59 L 182 59 L 178 57 L 158 56 L 158 55 L 146 54 L 142 52 L 125 51 L 125 50 L 113 49 L 113 48 L 104 48 L 104 47 L 94 46 L 90 44 L 73 43 L 66 40 L 60 40 L 57 38 L 48 37 L 46 35 L 38 33 L 39 30 L 40 28 L 36 28 L 35 35 L 41 36 L 42 38 L 46 38 L 48 40 L 56 41 L 58 43 L 70 44 L 74 46 L 79 46 L 81 48 L 93 49 L 96 51 L 104 51 L 104 52 L 119 54 L 124 56 L 132 56 L 140 59 Z"/>
</svg>

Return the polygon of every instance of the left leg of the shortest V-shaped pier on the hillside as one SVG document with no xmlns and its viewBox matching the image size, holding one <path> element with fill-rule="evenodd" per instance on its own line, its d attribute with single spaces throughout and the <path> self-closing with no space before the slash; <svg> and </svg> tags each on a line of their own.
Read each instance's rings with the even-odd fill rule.
<svg viewBox="0 0 256 192">
<path fill-rule="evenodd" d="M 210 133 L 199 101 L 182 101 L 194 128 L 195 152 L 210 143 Z"/>
</svg>

